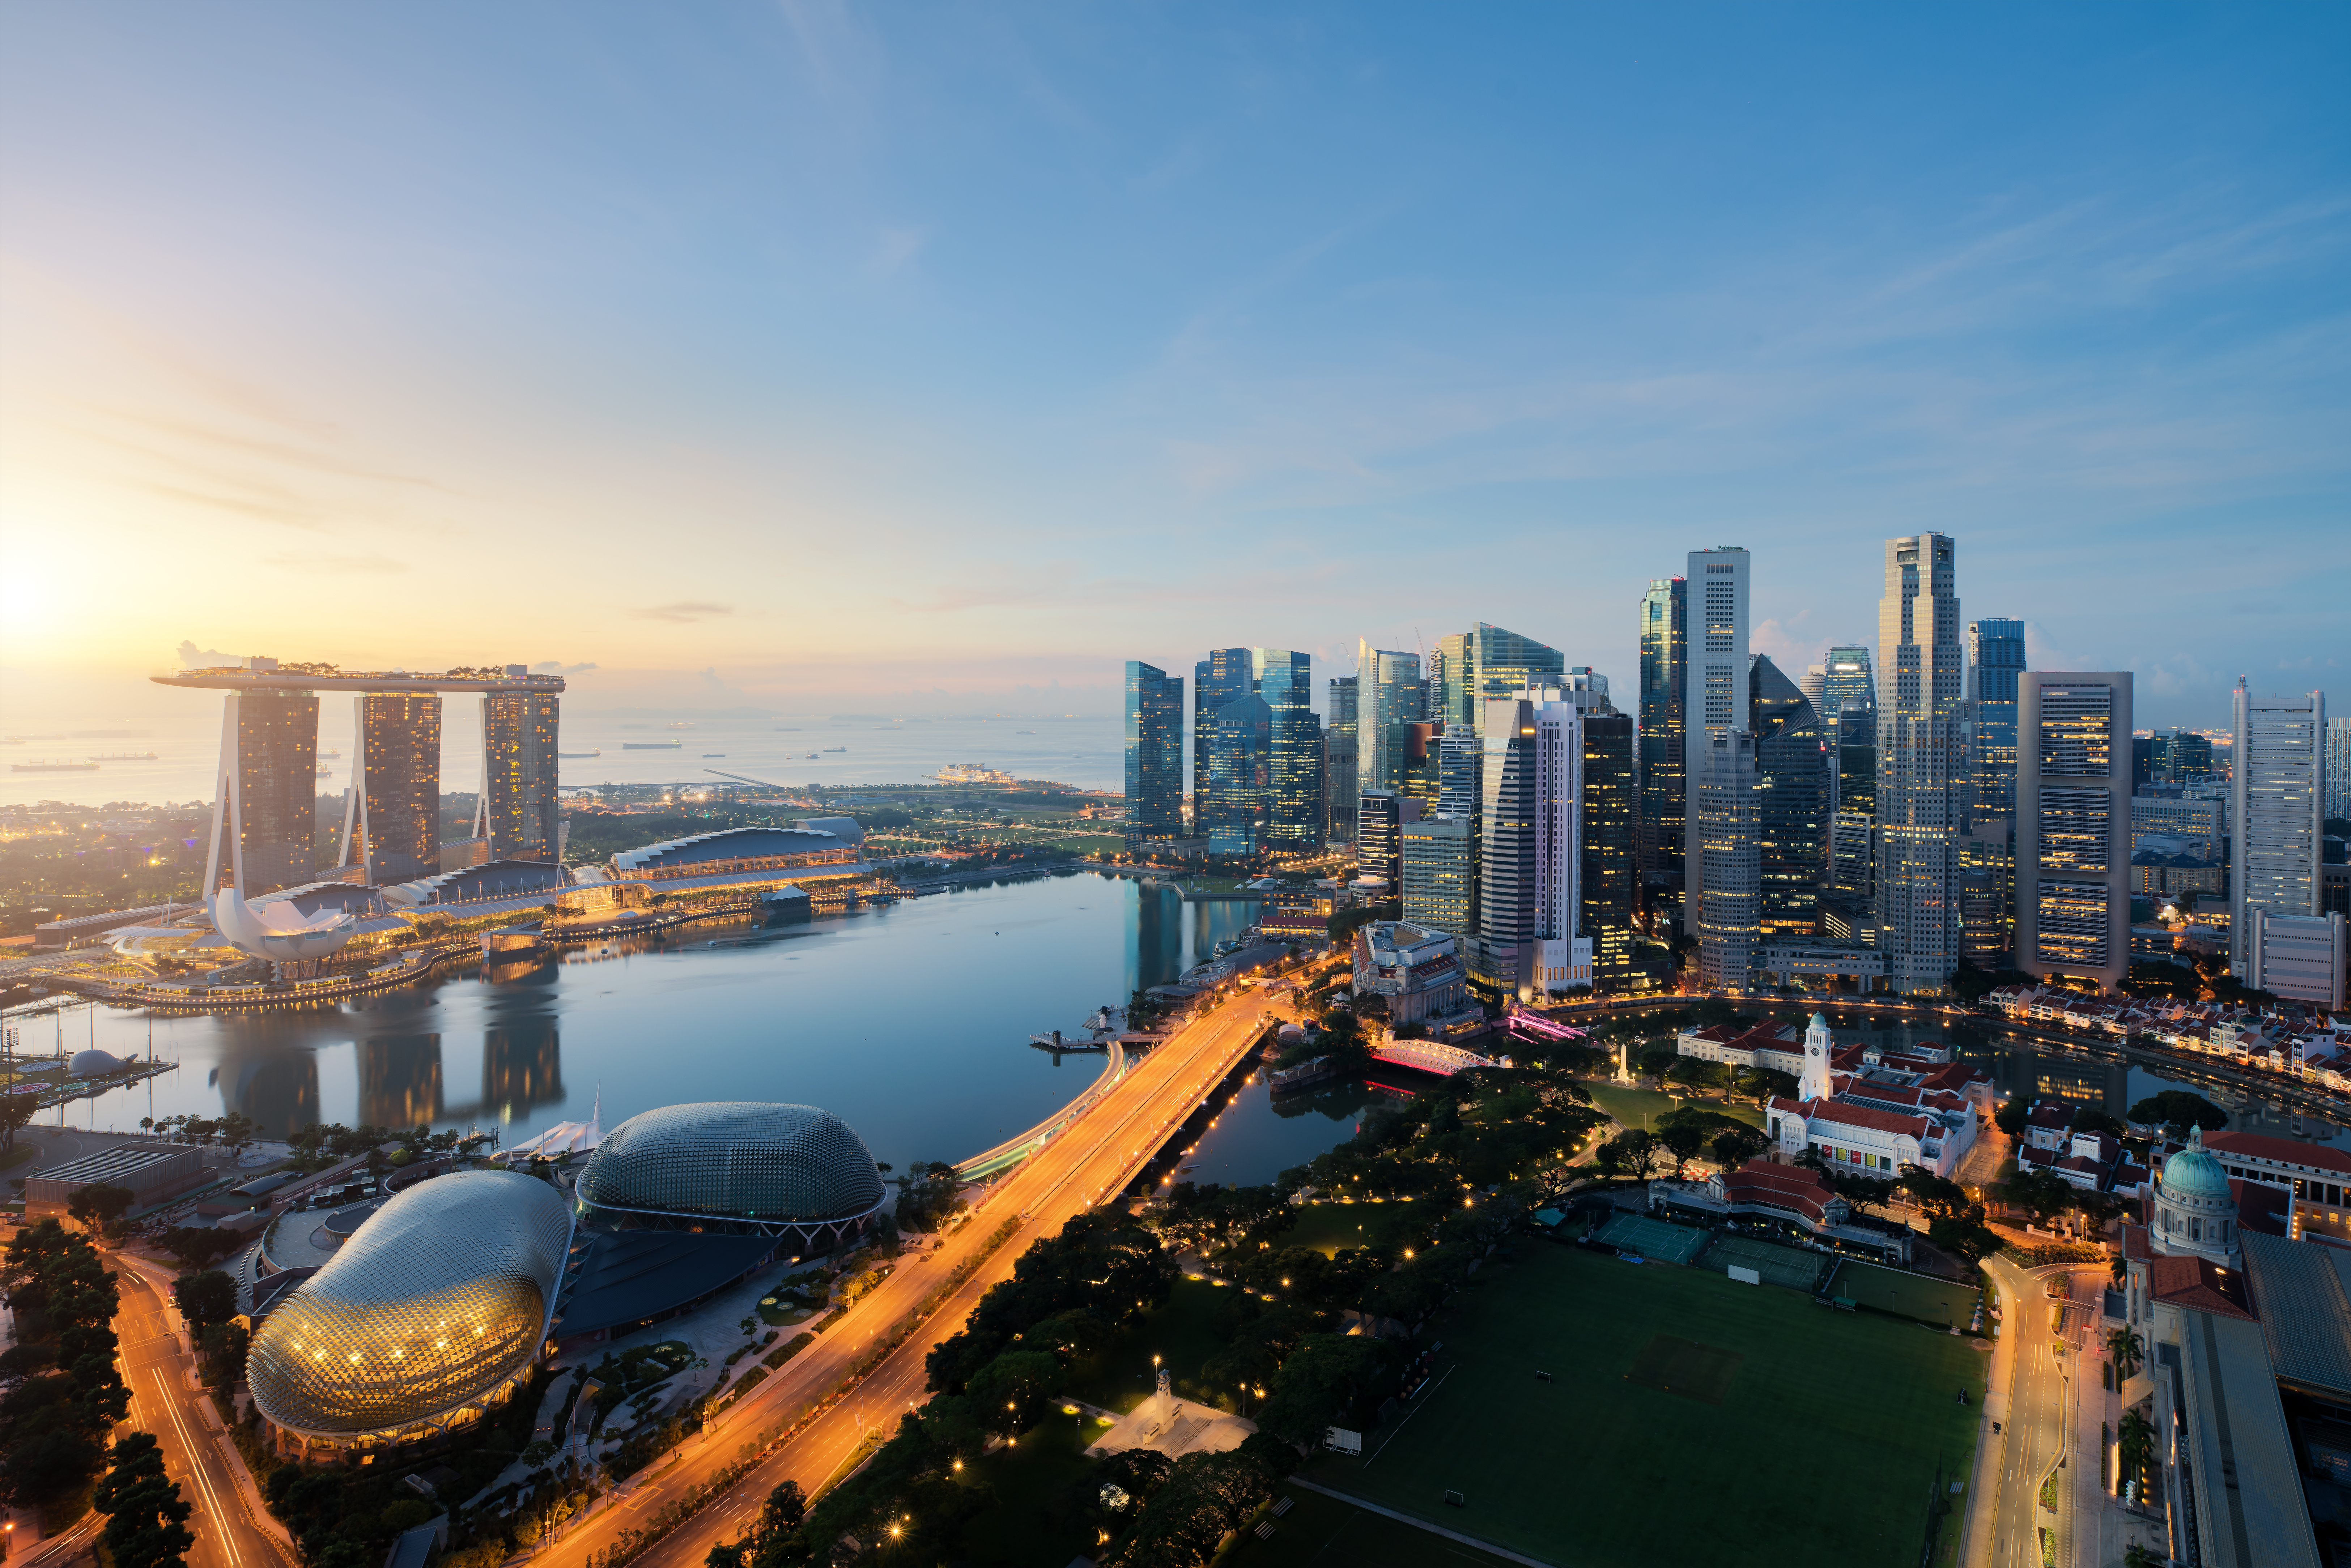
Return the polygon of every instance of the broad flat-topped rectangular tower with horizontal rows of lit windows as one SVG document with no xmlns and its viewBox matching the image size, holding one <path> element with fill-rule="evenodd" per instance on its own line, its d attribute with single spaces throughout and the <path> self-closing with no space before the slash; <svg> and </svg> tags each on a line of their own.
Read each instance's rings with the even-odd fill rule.
<svg viewBox="0 0 2351 1568">
<path fill-rule="evenodd" d="M 2017 677 L 2017 969 L 2130 973 L 2130 672 Z"/>
</svg>

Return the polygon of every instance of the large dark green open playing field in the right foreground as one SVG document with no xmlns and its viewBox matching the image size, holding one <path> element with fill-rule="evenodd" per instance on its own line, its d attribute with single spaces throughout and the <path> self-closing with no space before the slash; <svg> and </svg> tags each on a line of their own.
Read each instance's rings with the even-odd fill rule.
<svg viewBox="0 0 2351 1568">
<path fill-rule="evenodd" d="M 1968 1476 L 1989 1361 L 1965 1340 L 1556 1246 L 1479 1279 L 1439 1382 L 1307 1476 L 1578 1568 L 1916 1561 Z"/>
</svg>

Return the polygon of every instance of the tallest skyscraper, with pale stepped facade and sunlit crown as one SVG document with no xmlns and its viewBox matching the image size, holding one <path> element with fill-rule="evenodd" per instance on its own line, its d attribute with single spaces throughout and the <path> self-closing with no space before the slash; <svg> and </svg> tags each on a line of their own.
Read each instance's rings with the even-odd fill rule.
<svg viewBox="0 0 2351 1568">
<path fill-rule="evenodd" d="M 1965 656 L 1956 545 L 1886 541 L 1878 599 L 1878 947 L 1902 994 L 1940 994 L 1958 966 L 1965 823 Z"/>
</svg>

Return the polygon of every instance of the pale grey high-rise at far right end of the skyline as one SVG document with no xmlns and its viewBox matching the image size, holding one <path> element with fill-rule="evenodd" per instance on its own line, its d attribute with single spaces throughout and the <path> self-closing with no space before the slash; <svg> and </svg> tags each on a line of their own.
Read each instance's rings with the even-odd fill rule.
<svg viewBox="0 0 2351 1568">
<path fill-rule="evenodd" d="M 2236 682 L 2236 745 L 2231 748 L 2229 830 L 2229 969 L 2245 980 L 2257 966 L 2252 912 L 2269 917 L 2318 914 L 2318 856 L 2323 844 L 2327 701 L 2318 691 L 2255 696 Z"/>
</svg>

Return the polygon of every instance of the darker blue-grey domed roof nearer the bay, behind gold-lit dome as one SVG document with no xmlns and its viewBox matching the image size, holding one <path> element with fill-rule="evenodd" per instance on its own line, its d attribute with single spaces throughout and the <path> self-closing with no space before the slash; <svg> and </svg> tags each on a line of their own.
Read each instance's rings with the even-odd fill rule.
<svg viewBox="0 0 2351 1568">
<path fill-rule="evenodd" d="M 616 1126 L 581 1171 L 583 1208 L 832 1225 L 882 1206 L 865 1140 L 813 1105 L 663 1105 Z"/>
</svg>

